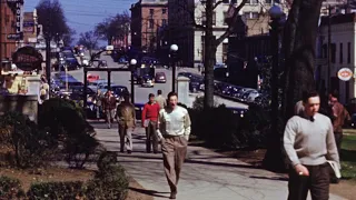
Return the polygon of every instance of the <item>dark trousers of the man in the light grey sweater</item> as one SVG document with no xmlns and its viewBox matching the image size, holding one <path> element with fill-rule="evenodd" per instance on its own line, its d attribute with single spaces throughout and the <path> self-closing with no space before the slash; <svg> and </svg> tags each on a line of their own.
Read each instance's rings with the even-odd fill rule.
<svg viewBox="0 0 356 200">
<path fill-rule="evenodd" d="M 309 177 L 297 174 L 294 168 L 289 170 L 288 200 L 306 200 L 310 190 L 313 200 L 329 199 L 329 166 L 305 166 Z"/>
</svg>

